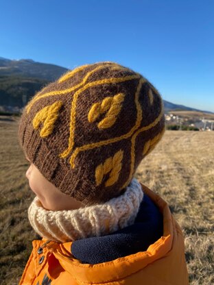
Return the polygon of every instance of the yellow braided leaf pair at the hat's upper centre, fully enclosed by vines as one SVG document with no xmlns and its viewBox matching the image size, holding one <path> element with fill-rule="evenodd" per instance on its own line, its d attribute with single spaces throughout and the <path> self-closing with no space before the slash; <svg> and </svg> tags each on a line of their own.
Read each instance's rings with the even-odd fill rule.
<svg viewBox="0 0 214 285">
<path fill-rule="evenodd" d="M 98 123 L 97 127 L 99 129 L 107 129 L 114 125 L 117 115 L 122 108 L 124 97 L 123 93 L 119 93 L 114 97 L 106 97 L 102 102 L 94 103 L 88 112 L 89 123 L 93 123 L 102 113 L 108 111 L 105 118 Z"/>
</svg>

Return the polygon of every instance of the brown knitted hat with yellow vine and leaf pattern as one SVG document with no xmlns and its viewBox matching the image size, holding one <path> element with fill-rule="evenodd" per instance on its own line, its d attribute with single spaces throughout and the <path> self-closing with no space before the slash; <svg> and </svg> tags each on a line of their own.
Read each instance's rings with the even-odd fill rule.
<svg viewBox="0 0 214 285">
<path fill-rule="evenodd" d="M 165 132 L 163 101 L 139 73 L 114 62 L 80 66 L 25 107 L 25 155 L 62 193 L 85 205 L 123 193 Z"/>
</svg>

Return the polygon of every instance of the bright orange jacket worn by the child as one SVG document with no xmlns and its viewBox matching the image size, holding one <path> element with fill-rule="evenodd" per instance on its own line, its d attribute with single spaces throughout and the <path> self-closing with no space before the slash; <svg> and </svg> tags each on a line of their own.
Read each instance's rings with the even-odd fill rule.
<svg viewBox="0 0 214 285">
<path fill-rule="evenodd" d="M 34 240 L 20 281 L 25 285 L 187 285 L 184 239 L 167 203 L 149 188 L 143 192 L 163 214 L 163 236 L 147 251 L 98 264 L 84 264 L 71 254 L 72 243 Z"/>
</svg>

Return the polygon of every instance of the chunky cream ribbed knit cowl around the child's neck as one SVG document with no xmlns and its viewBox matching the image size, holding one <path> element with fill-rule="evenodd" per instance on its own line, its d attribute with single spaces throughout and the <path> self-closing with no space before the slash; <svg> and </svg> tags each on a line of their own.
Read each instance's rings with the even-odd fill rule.
<svg viewBox="0 0 214 285">
<path fill-rule="evenodd" d="M 46 210 L 35 197 L 28 210 L 29 222 L 40 236 L 62 243 L 104 236 L 132 225 L 142 199 L 141 184 L 135 178 L 123 195 L 75 210 Z"/>
</svg>

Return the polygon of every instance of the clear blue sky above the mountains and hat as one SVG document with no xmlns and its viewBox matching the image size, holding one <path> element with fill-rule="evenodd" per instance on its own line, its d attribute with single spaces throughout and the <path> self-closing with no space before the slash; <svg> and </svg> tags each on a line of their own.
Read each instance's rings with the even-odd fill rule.
<svg viewBox="0 0 214 285">
<path fill-rule="evenodd" d="M 3 0 L 0 11 L 3 58 L 119 62 L 163 99 L 214 112 L 213 0 Z"/>
</svg>

